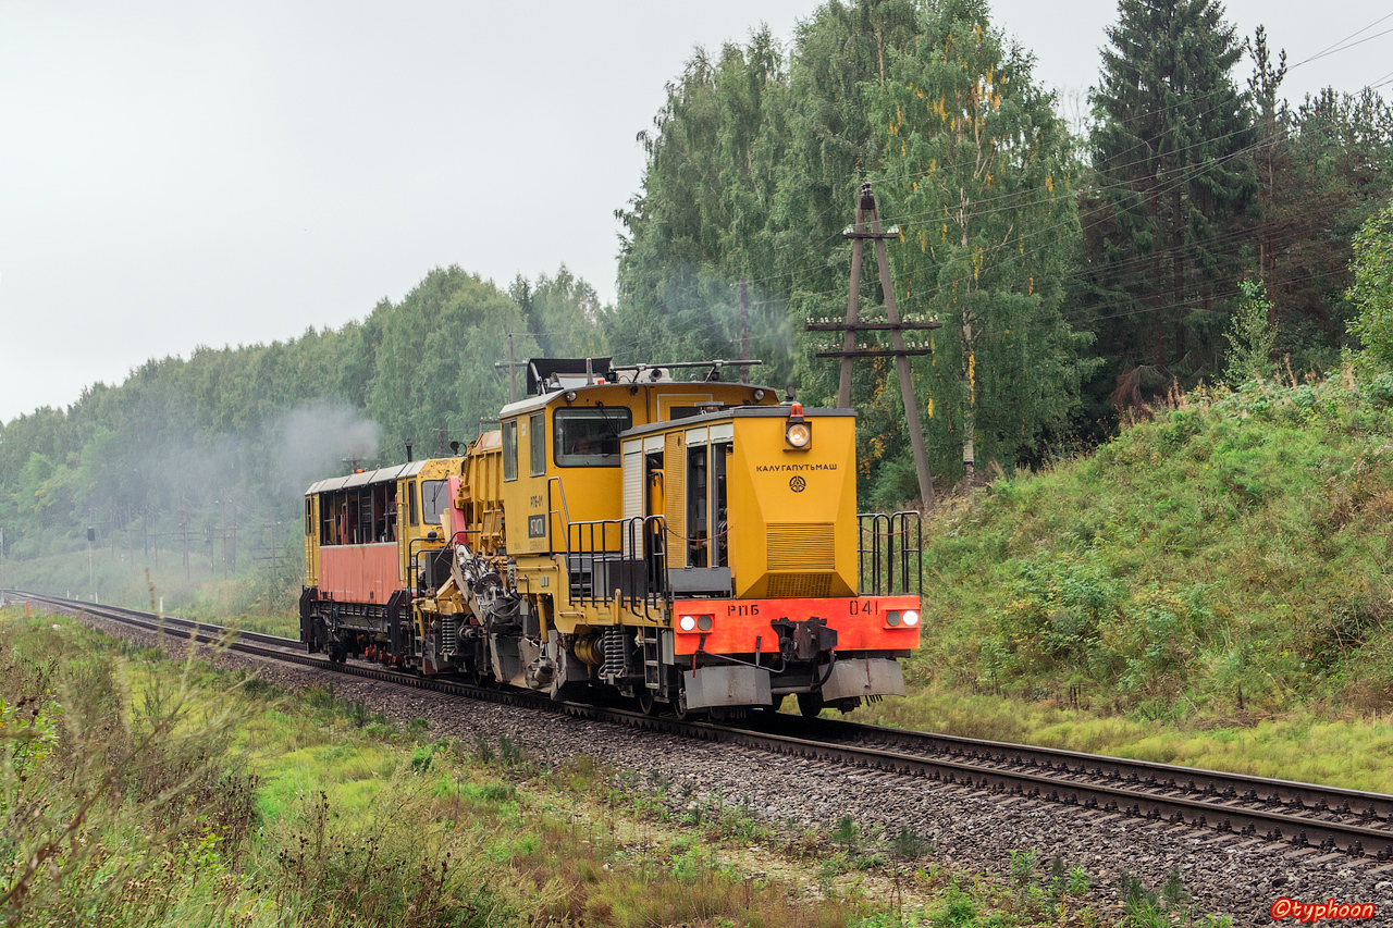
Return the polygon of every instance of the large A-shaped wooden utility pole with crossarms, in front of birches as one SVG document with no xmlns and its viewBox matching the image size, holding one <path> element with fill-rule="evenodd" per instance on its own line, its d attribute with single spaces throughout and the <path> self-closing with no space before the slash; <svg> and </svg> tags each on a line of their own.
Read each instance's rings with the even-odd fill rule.
<svg viewBox="0 0 1393 928">
<path fill-rule="evenodd" d="M 871 231 L 866 231 L 866 219 L 871 220 Z M 904 397 L 905 428 L 910 432 L 910 447 L 914 450 L 914 470 L 919 478 L 919 499 L 925 509 L 933 509 L 933 478 L 929 475 L 929 456 L 924 447 L 924 424 L 919 421 L 919 404 L 914 397 L 914 379 L 910 376 L 910 357 L 933 354 L 933 348 L 918 344 L 910 347 L 904 343 L 904 332 L 940 329 L 942 322 L 901 322 L 900 311 L 894 305 L 894 281 L 890 280 L 890 259 L 886 255 L 885 242 L 889 238 L 898 238 L 900 229 L 894 226 L 880 231 L 880 215 L 876 210 L 875 194 L 871 184 L 861 184 L 861 198 L 857 201 L 855 224 L 841 233 L 843 238 L 851 240 L 851 293 L 847 295 L 847 319 L 843 323 L 812 322 L 804 329 L 807 332 L 840 332 L 841 351 L 819 351 L 819 358 L 841 358 L 841 379 L 837 385 L 837 405 L 848 408 L 851 405 L 851 359 L 853 358 L 894 358 L 894 366 L 900 373 L 900 394 Z M 861 298 L 861 258 L 862 242 L 869 240 L 875 245 L 876 263 L 880 270 L 880 290 L 885 291 L 886 322 L 861 322 L 858 315 L 858 301 Z M 889 332 L 890 350 L 879 347 L 857 347 L 858 332 Z"/>
</svg>

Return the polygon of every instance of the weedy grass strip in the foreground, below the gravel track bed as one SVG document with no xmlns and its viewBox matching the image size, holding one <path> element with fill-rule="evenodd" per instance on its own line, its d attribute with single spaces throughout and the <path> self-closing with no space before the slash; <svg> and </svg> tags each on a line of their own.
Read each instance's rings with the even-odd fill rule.
<svg viewBox="0 0 1393 928">
<path fill-rule="evenodd" d="M 780 830 L 14 609 L 0 748 L 6 924 L 1096 924 L 1084 883 L 1028 895 L 914 835 Z"/>
</svg>

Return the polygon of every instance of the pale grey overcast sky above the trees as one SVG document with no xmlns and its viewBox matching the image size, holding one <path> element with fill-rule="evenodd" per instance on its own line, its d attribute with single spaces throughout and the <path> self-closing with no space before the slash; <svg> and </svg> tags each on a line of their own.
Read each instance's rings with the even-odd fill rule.
<svg viewBox="0 0 1393 928">
<path fill-rule="evenodd" d="M 816 6 L 4 0 L 0 421 L 150 357 L 361 319 L 440 265 L 506 286 L 566 262 L 613 298 L 663 84 L 695 45 L 759 22 L 787 42 Z M 1043 82 L 1096 79 L 1116 3 L 993 10 Z M 1393 6 L 1227 11 L 1295 63 Z M 1289 98 L 1390 77 L 1387 28 L 1294 70 Z"/>
</svg>

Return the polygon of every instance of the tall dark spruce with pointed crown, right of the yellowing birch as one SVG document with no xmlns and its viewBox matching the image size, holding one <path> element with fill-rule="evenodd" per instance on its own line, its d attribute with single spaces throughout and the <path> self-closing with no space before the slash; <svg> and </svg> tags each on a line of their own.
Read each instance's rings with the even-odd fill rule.
<svg viewBox="0 0 1393 928">
<path fill-rule="evenodd" d="M 1120 0 L 1092 91 L 1096 330 L 1123 366 L 1213 371 L 1255 195 L 1243 56 L 1217 0 Z"/>
</svg>

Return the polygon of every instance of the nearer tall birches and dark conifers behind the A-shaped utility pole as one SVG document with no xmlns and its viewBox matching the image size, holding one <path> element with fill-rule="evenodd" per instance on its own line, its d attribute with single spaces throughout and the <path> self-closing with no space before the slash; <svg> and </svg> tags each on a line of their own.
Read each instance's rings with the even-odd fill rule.
<svg viewBox="0 0 1393 928">
<path fill-rule="evenodd" d="M 1240 36 L 1216 0 L 1121 0 L 1106 39 L 1078 132 L 982 0 L 830 3 L 786 52 L 768 31 L 699 52 L 620 213 L 616 353 L 729 350 L 744 281 L 781 323 L 793 379 L 829 401 L 836 362 L 815 355 L 833 346 L 802 326 L 846 312 L 841 231 L 871 181 L 901 231 L 900 307 L 942 322 L 933 357 L 914 359 L 940 482 L 1096 442 L 1120 410 L 1220 379 L 1244 284 L 1276 359 L 1337 366 L 1355 346 L 1351 240 L 1389 196 L 1393 110 L 1369 88 L 1287 103 L 1286 54 L 1262 28 Z M 862 489 L 880 506 L 917 495 L 892 368 L 862 364 L 854 389 Z"/>
</svg>

